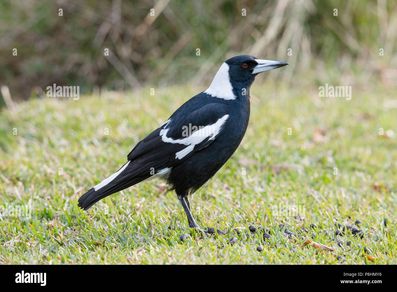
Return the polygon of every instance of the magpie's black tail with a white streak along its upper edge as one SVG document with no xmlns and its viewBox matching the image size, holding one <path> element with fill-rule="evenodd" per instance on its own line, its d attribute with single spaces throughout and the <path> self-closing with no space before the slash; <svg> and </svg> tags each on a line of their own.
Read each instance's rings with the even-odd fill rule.
<svg viewBox="0 0 397 292">
<path fill-rule="evenodd" d="M 118 172 L 112 174 L 110 177 L 106 178 L 106 180 L 97 184 L 94 188 L 82 195 L 79 198 L 77 206 L 85 211 L 91 208 L 100 199 L 129 188 L 150 177 L 150 172 L 145 171 L 145 167 L 130 162 L 131 161 L 128 161 Z"/>
</svg>

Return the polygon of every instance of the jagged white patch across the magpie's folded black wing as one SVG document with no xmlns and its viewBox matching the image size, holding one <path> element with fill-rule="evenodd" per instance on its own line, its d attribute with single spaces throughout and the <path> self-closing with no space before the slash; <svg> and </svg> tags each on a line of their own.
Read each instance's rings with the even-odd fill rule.
<svg viewBox="0 0 397 292">
<path fill-rule="evenodd" d="M 216 135 L 219 134 L 222 125 L 229 118 L 228 114 L 225 114 L 222 118 L 218 119 L 214 124 L 200 127 L 197 131 L 193 132 L 189 137 L 182 139 L 173 140 L 167 137 L 167 133 L 170 129 L 163 129 L 160 131 L 161 139 L 166 143 L 178 143 L 186 145 L 187 147 L 181 151 L 175 153 L 175 158 L 182 159 L 189 153 L 191 153 L 197 144 L 200 144 L 204 139 L 210 137 L 209 140 L 214 140 Z M 182 129 L 181 129 L 182 130 Z"/>
</svg>

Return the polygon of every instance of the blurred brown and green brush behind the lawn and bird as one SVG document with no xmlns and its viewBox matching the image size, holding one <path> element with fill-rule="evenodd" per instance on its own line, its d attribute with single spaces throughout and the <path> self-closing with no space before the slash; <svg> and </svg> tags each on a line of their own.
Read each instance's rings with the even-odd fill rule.
<svg viewBox="0 0 397 292">
<path fill-rule="evenodd" d="M 393 0 L 1 0 L 0 11 L 0 106 L 53 83 L 204 89 L 238 54 L 289 62 L 266 74 L 283 84 L 397 84 Z"/>
</svg>

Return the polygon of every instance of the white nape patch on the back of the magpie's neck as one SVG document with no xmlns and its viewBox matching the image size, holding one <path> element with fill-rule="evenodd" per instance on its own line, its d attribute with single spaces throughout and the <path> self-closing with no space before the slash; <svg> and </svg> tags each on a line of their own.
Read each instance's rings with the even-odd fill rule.
<svg viewBox="0 0 397 292">
<path fill-rule="evenodd" d="M 236 99 L 229 79 L 229 65 L 226 63 L 222 64 L 221 68 L 216 72 L 210 87 L 204 93 L 220 99 Z"/>
</svg>

